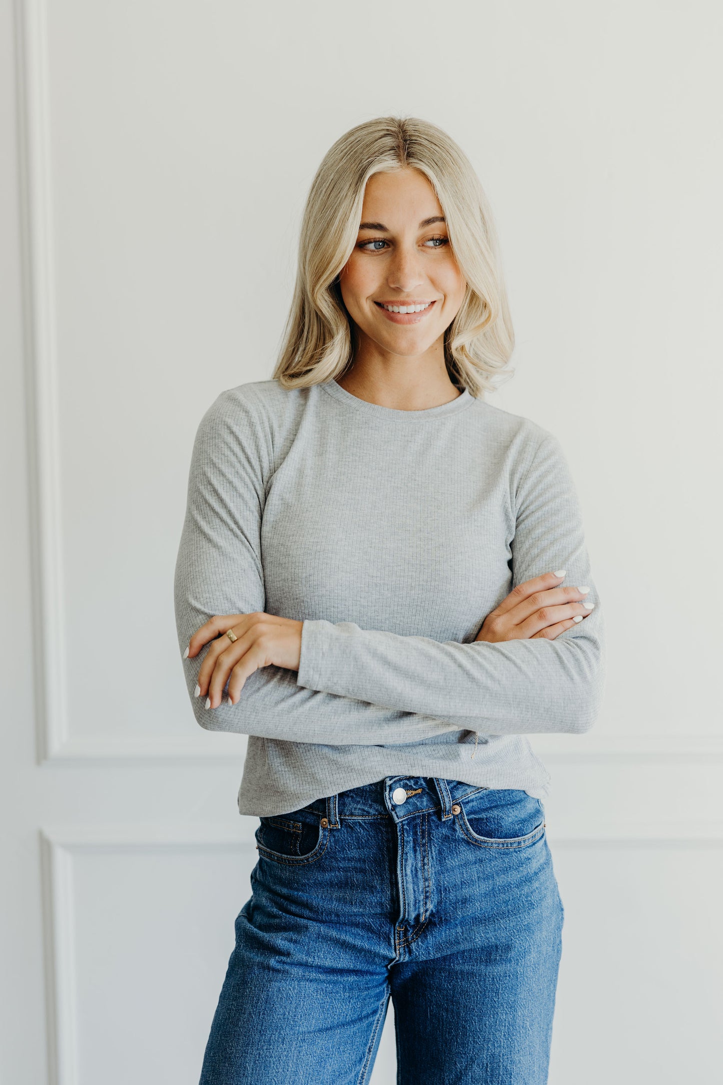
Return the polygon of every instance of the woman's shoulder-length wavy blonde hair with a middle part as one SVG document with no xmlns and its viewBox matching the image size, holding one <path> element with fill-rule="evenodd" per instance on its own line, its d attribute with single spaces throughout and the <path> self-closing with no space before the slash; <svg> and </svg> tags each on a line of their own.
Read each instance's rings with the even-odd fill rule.
<svg viewBox="0 0 723 1085">
<path fill-rule="evenodd" d="M 467 283 L 444 333 L 450 379 L 474 396 L 495 385 L 515 345 L 496 232 L 473 166 L 447 132 L 416 117 L 377 117 L 357 125 L 324 155 L 301 222 L 292 308 L 273 378 L 286 388 L 338 376 L 352 358 L 352 323 L 341 299 L 339 272 L 361 222 L 373 174 L 418 169 L 447 219 L 450 244 Z"/>
</svg>

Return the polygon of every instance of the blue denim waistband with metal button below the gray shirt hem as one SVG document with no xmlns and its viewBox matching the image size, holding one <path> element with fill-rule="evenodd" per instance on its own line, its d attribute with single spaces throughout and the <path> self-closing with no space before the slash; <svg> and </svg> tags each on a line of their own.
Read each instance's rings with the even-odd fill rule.
<svg viewBox="0 0 723 1085">
<path fill-rule="evenodd" d="M 314 814 L 328 818 L 330 829 L 338 829 L 344 818 L 373 820 L 393 818 L 401 821 L 426 810 L 440 810 L 443 820 L 454 817 L 454 803 L 474 795 L 478 791 L 489 791 L 460 780 L 443 780 L 426 776 L 387 776 L 384 780 L 367 783 L 361 788 L 339 791 L 336 795 L 317 799 L 307 807 Z M 397 800 L 392 795 L 397 793 Z M 455 813 L 459 813 L 455 812 Z"/>
</svg>

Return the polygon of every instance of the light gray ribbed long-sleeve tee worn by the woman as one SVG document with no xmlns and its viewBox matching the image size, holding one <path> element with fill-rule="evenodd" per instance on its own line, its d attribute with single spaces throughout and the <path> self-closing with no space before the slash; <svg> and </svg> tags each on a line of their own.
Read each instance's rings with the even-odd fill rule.
<svg viewBox="0 0 723 1085">
<path fill-rule="evenodd" d="M 512 588 L 565 569 L 595 609 L 555 640 L 476 641 Z M 175 573 L 181 653 L 214 614 L 304 622 L 298 673 L 269 666 L 195 718 L 249 736 L 242 814 L 387 776 L 544 799 L 528 733 L 580 733 L 604 684 L 603 613 L 558 442 L 465 391 L 403 411 L 335 381 L 222 392 L 193 446 Z"/>
</svg>

